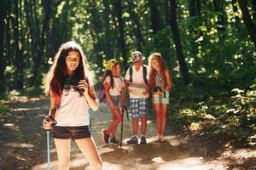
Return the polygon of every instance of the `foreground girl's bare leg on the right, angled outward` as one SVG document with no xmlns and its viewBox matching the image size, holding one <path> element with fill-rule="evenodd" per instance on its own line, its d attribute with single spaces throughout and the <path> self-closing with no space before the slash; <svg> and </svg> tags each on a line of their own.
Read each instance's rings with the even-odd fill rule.
<svg viewBox="0 0 256 170">
<path fill-rule="evenodd" d="M 96 149 L 96 144 L 92 138 L 76 139 L 79 149 L 87 158 L 90 164 L 90 169 L 102 170 L 102 160 Z"/>
</svg>

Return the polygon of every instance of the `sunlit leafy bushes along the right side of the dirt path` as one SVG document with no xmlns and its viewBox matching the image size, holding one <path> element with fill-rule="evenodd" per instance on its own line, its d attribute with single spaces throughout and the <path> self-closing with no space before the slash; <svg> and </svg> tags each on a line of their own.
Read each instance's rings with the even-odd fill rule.
<svg viewBox="0 0 256 170">
<path fill-rule="evenodd" d="M 197 93 L 204 95 L 203 92 Z M 234 88 L 231 92 L 219 91 L 217 95 L 208 96 L 201 102 L 190 100 L 192 95 L 195 94 L 182 96 L 173 105 L 175 115 L 172 119 L 178 127 L 191 131 L 201 130 L 218 136 L 224 135 L 236 146 L 254 144 L 252 141 L 256 132 L 255 89 Z"/>
</svg>

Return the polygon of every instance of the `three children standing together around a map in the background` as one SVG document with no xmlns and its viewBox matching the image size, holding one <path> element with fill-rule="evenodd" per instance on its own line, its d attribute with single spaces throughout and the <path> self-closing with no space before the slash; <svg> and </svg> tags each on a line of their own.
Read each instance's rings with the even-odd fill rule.
<svg viewBox="0 0 256 170">
<path fill-rule="evenodd" d="M 140 144 L 146 144 L 148 97 L 152 94 L 153 107 L 156 116 L 158 139 L 164 141 L 166 128 L 167 106 L 169 105 L 169 91 L 172 88 L 171 75 L 160 53 L 148 57 L 148 66 L 143 65 L 143 54 L 135 51 L 131 54 L 132 66 L 125 74 L 125 80 L 120 76 L 121 65 L 116 59 L 109 59 L 105 65 L 106 72 L 103 76 L 103 87 L 113 122 L 108 129 L 102 130 L 102 140 L 118 144 L 115 138 L 116 129 L 122 121 L 120 108 L 125 107 L 125 89 L 129 92 L 130 111 L 132 116 L 133 136 L 127 144 L 138 143 L 138 122 L 141 121 L 142 135 Z M 109 141 L 110 138 L 110 141 Z M 122 142 L 122 141 L 120 141 Z"/>
</svg>

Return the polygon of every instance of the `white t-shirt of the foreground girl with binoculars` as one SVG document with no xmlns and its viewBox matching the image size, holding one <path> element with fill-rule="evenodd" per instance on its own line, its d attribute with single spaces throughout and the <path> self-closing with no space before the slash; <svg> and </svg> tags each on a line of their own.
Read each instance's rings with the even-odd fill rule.
<svg viewBox="0 0 256 170">
<path fill-rule="evenodd" d="M 93 86 L 92 80 L 89 78 L 90 87 Z M 56 110 L 55 120 L 57 126 L 60 127 L 77 127 L 88 126 L 89 105 L 84 96 L 78 91 L 71 88 L 69 91 L 63 89 L 61 95 L 61 106 Z"/>
</svg>

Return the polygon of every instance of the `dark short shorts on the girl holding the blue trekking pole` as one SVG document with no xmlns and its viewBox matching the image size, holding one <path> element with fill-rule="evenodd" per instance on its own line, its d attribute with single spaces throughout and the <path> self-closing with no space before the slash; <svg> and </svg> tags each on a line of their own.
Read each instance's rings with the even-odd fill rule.
<svg viewBox="0 0 256 170">
<path fill-rule="evenodd" d="M 54 139 L 85 139 L 90 138 L 90 130 L 88 126 L 79 127 L 59 127 L 55 126 L 51 129 Z"/>
</svg>

